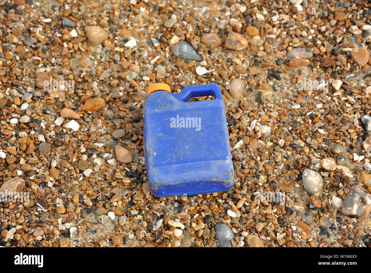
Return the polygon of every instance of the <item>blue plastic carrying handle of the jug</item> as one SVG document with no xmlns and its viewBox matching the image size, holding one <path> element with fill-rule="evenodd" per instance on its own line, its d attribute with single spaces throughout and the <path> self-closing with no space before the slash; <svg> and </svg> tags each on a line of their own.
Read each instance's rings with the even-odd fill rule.
<svg viewBox="0 0 371 273">
<path fill-rule="evenodd" d="M 187 102 L 192 97 L 213 96 L 216 100 L 223 100 L 220 87 L 217 84 L 200 84 L 184 87 L 178 94 L 180 99 Z"/>
</svg>

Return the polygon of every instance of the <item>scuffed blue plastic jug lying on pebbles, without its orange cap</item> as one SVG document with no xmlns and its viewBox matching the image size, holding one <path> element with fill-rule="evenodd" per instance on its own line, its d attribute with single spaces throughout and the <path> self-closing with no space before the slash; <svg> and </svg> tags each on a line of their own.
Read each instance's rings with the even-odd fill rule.
<svg viewBox="0 0 371 273">
<path fill-rule="evenodd" d="M 188 102 L 207 95 L 215 99 Z M 155 196 L 205 194 L 233 187 L 224 107 L 216 84 L 188 86 L 179 94 L 158 90 L 147 96 L 145 166 Z"/>
</svg>

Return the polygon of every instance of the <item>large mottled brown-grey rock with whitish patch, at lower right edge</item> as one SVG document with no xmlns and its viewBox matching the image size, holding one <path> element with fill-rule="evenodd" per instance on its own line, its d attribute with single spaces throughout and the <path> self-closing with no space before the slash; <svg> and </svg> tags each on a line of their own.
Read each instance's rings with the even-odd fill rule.
<svg viewBox="0 0 371 273">
<path fill-rule="evenodd" d="M 361 185 L 354 185 L 345 196 L 341 206 L 342 214 L 351 218 L 365 218 L 371 211 L 371 194 Z"/>
</svg>

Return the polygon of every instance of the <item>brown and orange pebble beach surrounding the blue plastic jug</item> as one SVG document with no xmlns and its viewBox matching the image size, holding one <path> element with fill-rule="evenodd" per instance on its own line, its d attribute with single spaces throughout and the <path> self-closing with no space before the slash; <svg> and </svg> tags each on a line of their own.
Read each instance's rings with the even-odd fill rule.
<svg viewBox="0 0 371 273">
<path fill-rule="evenodd" d="M 370 247 L 370 51 L 366 0 L 0 0 L 0 246 Z M 151 193 L 157 82 L 219 85 L 230 191 Z"/>
</svg>

